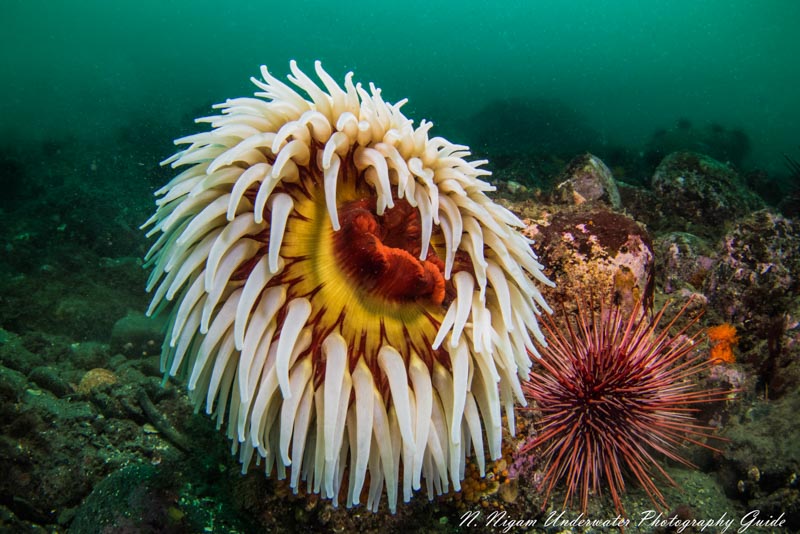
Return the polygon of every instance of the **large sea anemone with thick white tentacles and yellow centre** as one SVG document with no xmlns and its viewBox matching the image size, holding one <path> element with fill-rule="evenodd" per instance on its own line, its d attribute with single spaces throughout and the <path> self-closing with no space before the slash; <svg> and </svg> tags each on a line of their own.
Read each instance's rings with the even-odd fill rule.
<svg viewBox="0 0 800 534">
<path fill-rule="evenodd" d="M 432 498 L 500 456 L 549 282 L 485 161 L 315 65 L 322 86 L 291 63 L 296 89 L 262 67 L 257 98 L 176 141 L 148 313 L 172 303 L 162 368 L 227 417 L 243 470 L 257 450 L 295 491 L 350 506 L 368 484 L 376 510 L 385 485 L 394 511 L 401 482 Z"/>
</svg>

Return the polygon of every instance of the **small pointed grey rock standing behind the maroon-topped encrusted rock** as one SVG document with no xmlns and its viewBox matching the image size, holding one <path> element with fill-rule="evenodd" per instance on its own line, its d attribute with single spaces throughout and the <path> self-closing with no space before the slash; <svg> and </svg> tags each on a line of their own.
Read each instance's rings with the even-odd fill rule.
<svg viewBox="0 0 800 534">
<path fill-rule="evenodd" d="M 570 161 L 558 179 L 561 201 L 580 205 L 584 202 L 620 207 L 619 190 L 611 171 L 597 156 L 583 154 Z"/>
</svg>

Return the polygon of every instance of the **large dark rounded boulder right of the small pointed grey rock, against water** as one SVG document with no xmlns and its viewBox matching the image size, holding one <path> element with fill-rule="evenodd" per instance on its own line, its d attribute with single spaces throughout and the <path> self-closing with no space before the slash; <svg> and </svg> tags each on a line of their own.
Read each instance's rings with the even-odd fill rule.
<svg viewBox="0 0 800 534">
<path fill-rule="evenodd" d="M 652 179 L 659 230 L 717 238 L 724 221 L 764 206 L 727 165 L 702 154 L 676 152 L 661 162 Z"/>
</svg>

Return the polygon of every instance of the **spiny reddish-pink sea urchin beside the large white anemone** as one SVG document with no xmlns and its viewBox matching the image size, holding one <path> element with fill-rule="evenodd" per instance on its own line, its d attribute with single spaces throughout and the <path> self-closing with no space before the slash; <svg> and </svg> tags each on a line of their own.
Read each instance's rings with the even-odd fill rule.
<svg viewBox="0 0 800 534">
<path fill-rule="evenodd" d="M 686 306 L 660 331 L 666 307 L 652 320 L 641 301 L 637 308 L 627 316 L 619 306 L 599 313 L 581 306 L 561 327 L 550 317 L 543 322 L 549 345 L 523 386 L 542 417 L 539 434 L 522 452 L 537 450 L 542 457 L 545 503 L 563 480 L 563 505 L 579 495 L 585 511 L 589 493 L 602 493 L 605 481 L 614 507 L 624 513 L 620 496 L 628 474 L 656 506 L 667 508 L 652 475 L 676 484 L 656 457 L 694 467 L 679 454 L 683 444 L 716 451 L 705 441 L 713 429 L 693 414 L 696 405 L 725 400 L 729 392 L 693 382 L 711 366 L 702 352 L 693 352 L 702 332 L 686 335 L 697 317 L 670 335 Z"/>
</svg>

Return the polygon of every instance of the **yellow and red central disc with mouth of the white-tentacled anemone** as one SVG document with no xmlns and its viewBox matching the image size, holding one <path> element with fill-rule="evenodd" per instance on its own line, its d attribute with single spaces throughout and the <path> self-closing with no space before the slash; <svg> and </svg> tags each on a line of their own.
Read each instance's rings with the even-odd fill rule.
<svg viewBox="0 0 800 534">
<path fill-rule="evenodd" d="M 420 259 L 419 212 L 407 200 L 394 199 L 394 207 L 378 215 L 374 191 L 348 187 L 349 182 L 345 178 L 337 192 L 338 230 L 313 178 L 282 189 L 292 197 L 294 211 L 284 232 L 283 270 L 267 287 L 285 287 L 287 300 L 308 299 L 312 339 L 340 333 L 356 349 L 349 352 L 351 366 L 364 357 L 379 375 L 380 348 L 391 346 L 406 364 L 414 352 L 429 367 L 434 359 L 449 367 L 447 352 L 433 349 L 455 294 L 437 253 L 445 246 L 443 236 L 433 231 L 425 259 Z M 463 261 L 454 261 L 453 270 L 464 270 Z M 315 361 L 324 361 L 321 344 L 311 351 Z"/>
</svg>

